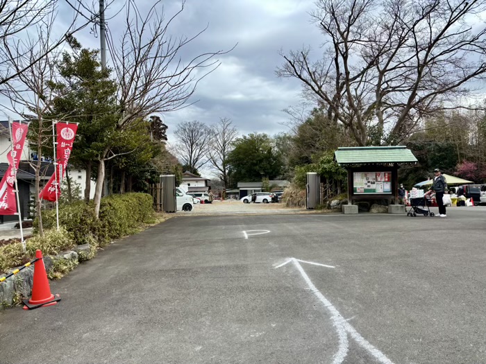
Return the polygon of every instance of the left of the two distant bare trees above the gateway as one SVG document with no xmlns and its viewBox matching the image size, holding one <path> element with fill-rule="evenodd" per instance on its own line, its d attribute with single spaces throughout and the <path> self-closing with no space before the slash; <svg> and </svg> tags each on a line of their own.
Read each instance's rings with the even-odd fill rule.
<svg viewBox="0 0 486 364">
<path fill-rule="evenodd" d="M 174 135 L 177 138 L 174 152 L 190 173 L 195 173 L 209 162 L 206 158 L 211 141 L 208 125 L 196 120 L 185 121 L 177 125 Z"/>
</svg>

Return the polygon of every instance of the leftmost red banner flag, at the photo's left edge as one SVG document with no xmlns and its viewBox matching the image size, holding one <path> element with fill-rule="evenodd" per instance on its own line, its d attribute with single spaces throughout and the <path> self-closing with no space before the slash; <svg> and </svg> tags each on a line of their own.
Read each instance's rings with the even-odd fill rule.
<svg viewBox="0 0 486 364">
<path fill-rule="evenodd" d="M 11 128 L 13 148 L 7 155 L 8 168 L 0 182 L 0 215 L 17 214 L 17 198 L 14 185 L 15 172 L 19 168 L 20 158 L 24 150 L 28 124 L 12 123 Z"/>
</svg>

